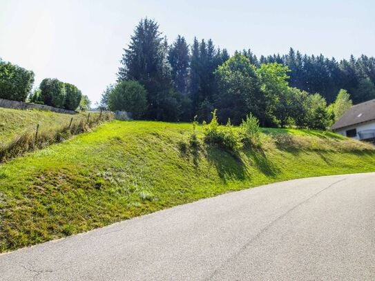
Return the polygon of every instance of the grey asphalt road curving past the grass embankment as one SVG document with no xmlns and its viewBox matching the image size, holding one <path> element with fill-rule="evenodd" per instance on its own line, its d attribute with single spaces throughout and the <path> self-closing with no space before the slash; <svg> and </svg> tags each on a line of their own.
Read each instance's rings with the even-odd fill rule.
<svg viewBox="0 0 375 281">
<path fill-rule="evenodd" d="M 375 280 L 375 173 L 269 184 L 6 253 L 0 280 Z"/>
</svg>

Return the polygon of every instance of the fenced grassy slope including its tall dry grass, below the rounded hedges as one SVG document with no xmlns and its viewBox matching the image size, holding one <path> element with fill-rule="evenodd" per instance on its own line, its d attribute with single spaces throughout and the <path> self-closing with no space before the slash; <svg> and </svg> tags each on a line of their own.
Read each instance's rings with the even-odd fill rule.
<svg viewBox="0 0 375 281">
<path fill-rule="evenodd" d="M 108 119 L 107 113 L 102 115 L 102 119 Z M 71 135 L 86 132 L 98 123 L 99 113 L 90 113 L 88 118 L 88 113 L 68 115 L 0 108 L 0 162 L 61 142 Z"/>
</svg>

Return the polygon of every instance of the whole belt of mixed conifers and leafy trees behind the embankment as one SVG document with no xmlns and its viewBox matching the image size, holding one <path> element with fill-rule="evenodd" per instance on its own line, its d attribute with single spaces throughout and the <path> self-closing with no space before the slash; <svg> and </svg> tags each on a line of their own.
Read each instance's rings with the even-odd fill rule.
<svg viewBox="0 0 375 281">
<path fill-rule="evenodd" d="M 322 59 L 323 68 L 318 68 Z M 230 57 L 211 39 L 195 38 L 189 46 L 179 35 L 169 46 L 157 23 L 142 19 L 124 49 L 117 84 L 107 88 L 101 106 L 135 113 L 137 119 L 191 121 L 198 115 L 209 122 L 218 109 L 222 124 L 228 119 L 240 124 L 251 113 L 261 126 L 324 129 L 352 104 L 353 97 L 341 88 L 357 90 L 356 101 L 372 98 L 373 68 L 365 72 L 363 65 L 373 60 L 363 56 L 355 63 L 336 63 L 323 56 L 294 55 L 292 49 L 289 55 L 259 60 L 251 51 Z M 352 66 L 344 68 L 346 64 Z M 358 83 L 349 87 L 345 73 L 354 68 Z M 363 90 L 366 83 L 370 86 Z"/>
</svg>

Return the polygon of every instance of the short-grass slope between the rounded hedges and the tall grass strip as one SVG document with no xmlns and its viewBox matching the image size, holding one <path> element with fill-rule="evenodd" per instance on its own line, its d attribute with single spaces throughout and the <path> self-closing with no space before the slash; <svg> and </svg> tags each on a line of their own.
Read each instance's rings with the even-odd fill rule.
<svg viewBox="0 0 375 281">
<path fill-rule="evenodd" d="M 34 131 L 37 124 L 39 124 L 41 131 L 50 130 L 59 128 L 62 124 L 69 124 L 71 117 L 75 121 L 84 117 L 87 118 L 87 114 L 70 115 L 42 110 L 0 108 L 0 145 L 11 142 L 25 130 Z"/>
</svg>

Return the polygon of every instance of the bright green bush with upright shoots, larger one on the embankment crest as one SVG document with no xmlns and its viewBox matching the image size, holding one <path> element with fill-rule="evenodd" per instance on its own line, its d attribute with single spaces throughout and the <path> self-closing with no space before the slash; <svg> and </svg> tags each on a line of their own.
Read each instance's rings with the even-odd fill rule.
<svg viewBox="0 0 375 281">
<path fill-rule="evenodd" d="M 242 146 L 240 136 L 234 130 L 230 119 L 226 126 L 219 126 L 216 111 L 213 110 L 211 122 L 204 128 L 204 140 L 232 151 L 237 150 Z"/>
</svg>

